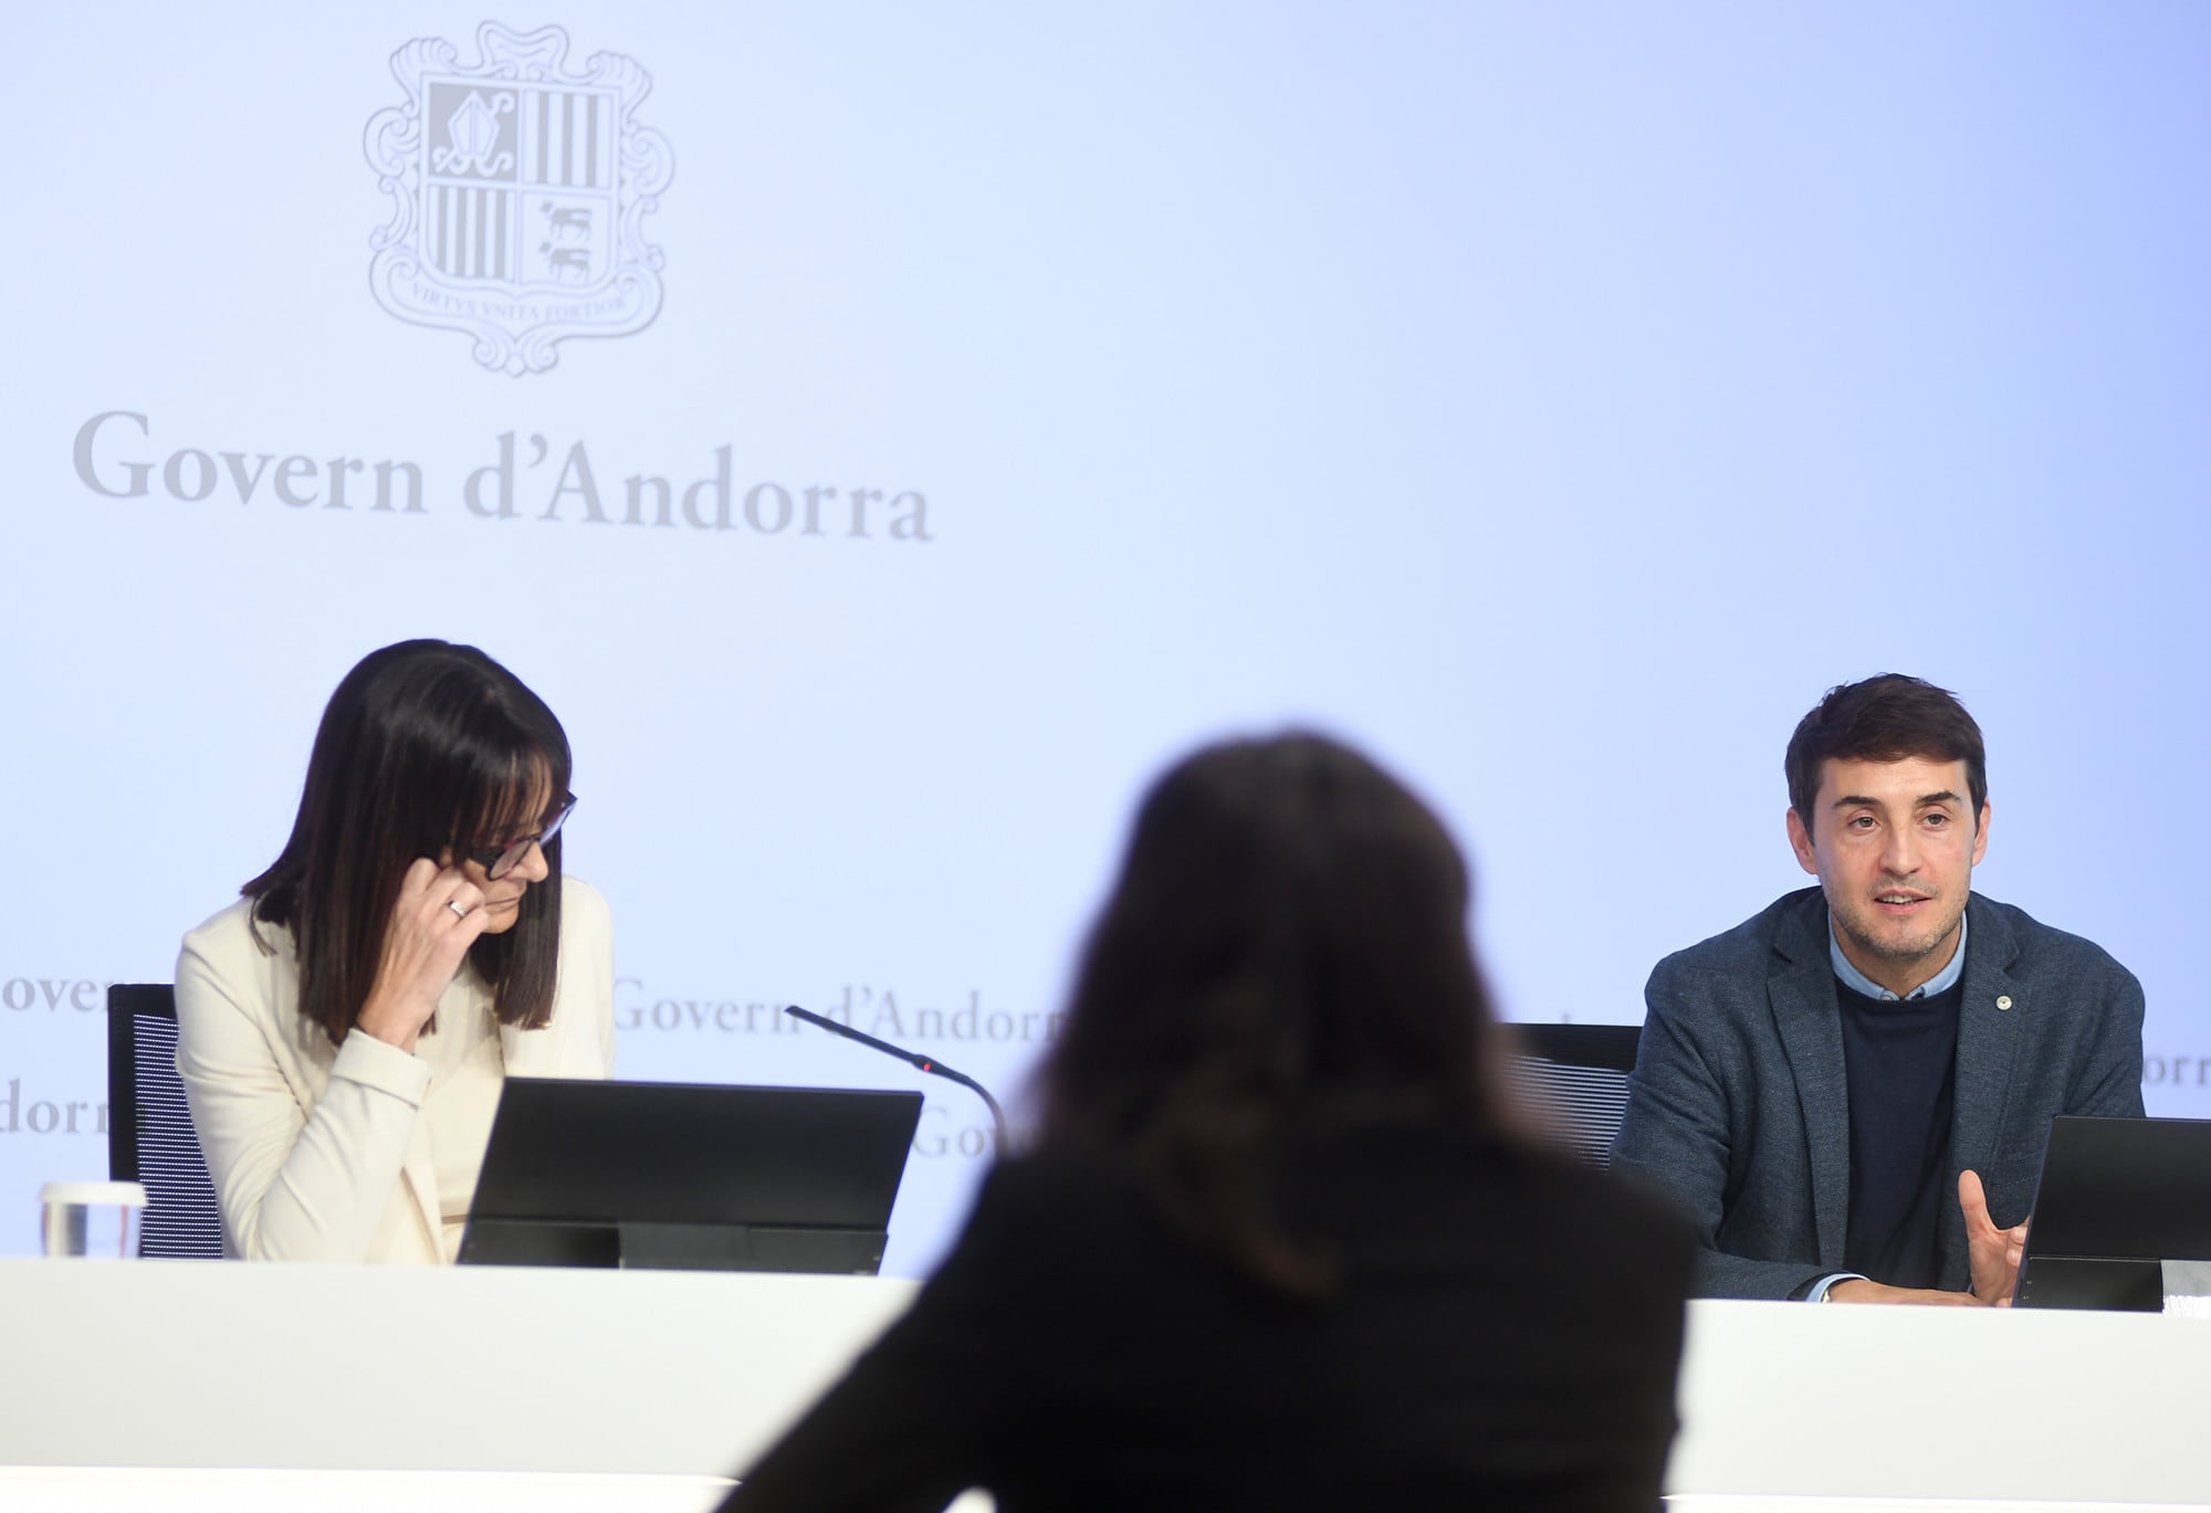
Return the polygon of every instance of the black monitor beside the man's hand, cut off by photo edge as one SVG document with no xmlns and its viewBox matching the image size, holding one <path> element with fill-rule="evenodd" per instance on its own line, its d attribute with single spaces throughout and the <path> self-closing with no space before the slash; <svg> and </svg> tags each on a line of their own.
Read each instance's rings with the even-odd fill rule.
<svg viewBox="0 0 2211 1513">
<path fill-rule="evenodd" d="M 2165 1261 L 2211 1261 L 2211 1119 L 2052 1119 L 2012 1301 L 2156 1312 Z"/>
</svg>

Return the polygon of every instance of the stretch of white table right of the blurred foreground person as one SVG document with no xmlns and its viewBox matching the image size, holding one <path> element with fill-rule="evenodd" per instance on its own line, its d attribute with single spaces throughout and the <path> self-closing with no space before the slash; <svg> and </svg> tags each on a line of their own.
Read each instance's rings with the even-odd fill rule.
<svg viewBox="0 0 2211 1513">
<path fill-rule="evenodd" d="M 1680 1416 L 1678 1509 L 2207 1509 L 2211 1321 L 1694 1303 Z"/>
</svg>

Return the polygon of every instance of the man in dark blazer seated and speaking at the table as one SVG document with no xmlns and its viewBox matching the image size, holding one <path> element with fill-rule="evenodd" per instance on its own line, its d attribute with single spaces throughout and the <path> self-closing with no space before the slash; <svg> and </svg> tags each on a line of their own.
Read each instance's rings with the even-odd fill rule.
<svg viewBox="0 0 2211 1513">
<path fill-rule="evenodd" d="M 1786 772 L 1820 887 L 1658 962 L 1614 1170 L 1687 1206 L 1707 1296 L 2008 1301 L 2050 1117 L 2142 1113 L 2142 989 L 1970 894 L 1988 776 L 1946 690 L 1828 690 Z"/>
</svg>

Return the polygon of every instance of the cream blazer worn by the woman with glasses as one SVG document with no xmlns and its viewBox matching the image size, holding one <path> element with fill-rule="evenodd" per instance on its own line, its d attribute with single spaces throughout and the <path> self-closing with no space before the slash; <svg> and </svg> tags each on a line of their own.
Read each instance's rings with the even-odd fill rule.
<svg viewBox="0 0 2211 1513">
<path fill-rule="evenodd" d="M 292 936 L 248 922 L 245 900 L 184 938 L 177 1071 L 223 1214 L 223 1250 L 256 1261 L 440 1259 L 422 1099 L 429 1066 L 354 1031 L 332 1046 L 298 1013 Z M 553 1024 L 502 1031 L 511 1073 L 612 1073 L 615 984 L 606 900 L 562 880 Z M 460 1011 L 473 989 L 440 1000 Z"/>
</svg>

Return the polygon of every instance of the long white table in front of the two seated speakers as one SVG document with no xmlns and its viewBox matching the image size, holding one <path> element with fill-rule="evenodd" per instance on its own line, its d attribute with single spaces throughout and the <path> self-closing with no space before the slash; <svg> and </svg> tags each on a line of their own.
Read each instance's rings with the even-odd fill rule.
<svg viewBox="0 0 2211 1513">
<path fill-rule="evenodd" d="M 911 1292 L 0 1259 L 0 1504 L 696 1513 Z M 1696 1303 L 1680 1402 L 1683 1513 L 2211 1509 L 2211 1321 Z"/>
</svg>

